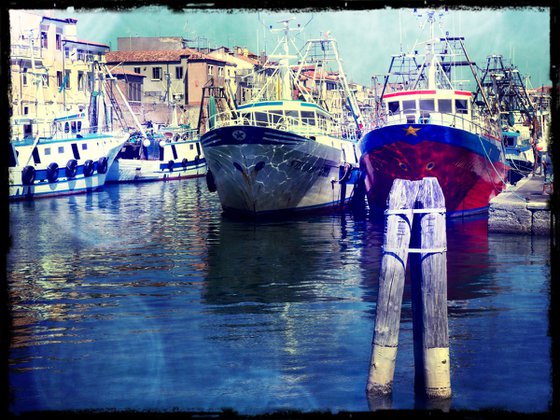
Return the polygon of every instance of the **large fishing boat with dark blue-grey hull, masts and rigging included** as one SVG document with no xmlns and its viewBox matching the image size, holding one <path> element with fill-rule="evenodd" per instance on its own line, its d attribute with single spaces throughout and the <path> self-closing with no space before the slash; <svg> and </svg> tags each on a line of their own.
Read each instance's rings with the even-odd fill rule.
<svg viewBox="0 0 560 420">
<path fill-rule="evenodd" d="M 207 181 L 217 191 L 224 213 L 242 216 L 286 215 L 332 210 L 347 203 L 359 174 L 357 136 L 359 110 L 340 65 L 334 39 L 311 40 L 301 56 L 290 53 L 289 20 L 282 21 L 281 39 L 265 63 L 265 83 L 233 109 L 209 113 L 202 126 L 202 148 L 208 163 Z M 336 81 L 343 88 L 352 119 L 325 90 L 320 78 L 306 78 L 318 48 L 338 65 Z M 322 46 L 322 49 L 321 49 Z M 299 58 L 296 65 L 290 59 Z M 330 63 L 333 65 L 333 62 Z M 321 67 L 324 69 L 324 67 Z M 257 76 L 253 80 L 259 80 Z M 307 80 L 308 86 L 303 82 Z M 332 90 L 333 93 L 335 89 Z M 328 104 L 330 103 L 331 108 Z M 211 107 L 212 108 L 212 107 Z M 346 109 L 344 107 L 344 109 Z M 218 111 L 218 110 L 217 110 Z M 337 113 L 338 111 L 338 113 Z"/>
</svg>

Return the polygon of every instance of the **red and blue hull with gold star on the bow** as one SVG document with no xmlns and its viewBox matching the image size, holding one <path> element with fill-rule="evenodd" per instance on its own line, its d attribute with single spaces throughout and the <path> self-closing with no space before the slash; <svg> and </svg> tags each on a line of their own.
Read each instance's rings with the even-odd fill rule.
<svg viewBox="0 0 560 420">
<path fill-rule="evenodd" d="M 360 167 L 370 208 L 384 210 L 396 178 L 436 177 L 448 216 L 487 211 L 504 188 L 508 167 L 499 141 L 433 124 L 374 129 L 360 142 Z"/>
</svg>

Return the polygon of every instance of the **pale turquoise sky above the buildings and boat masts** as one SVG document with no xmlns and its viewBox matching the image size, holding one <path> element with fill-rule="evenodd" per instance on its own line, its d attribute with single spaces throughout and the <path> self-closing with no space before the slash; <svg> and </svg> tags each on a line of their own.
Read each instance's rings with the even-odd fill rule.
<svg viewBox="0 0 560 420">
<path fill-rule="evenodd" d="M 163 6 L 135 9 L 79 9 L 53 11 L 56 17 L 78 19 L 78 37 L 117 49 L 118 37 L 181 36 L 201 46 L 248 47 L 252 52 L 272 52 L 276 35 L 269 26 L 295 18 L 304 27 L 296 42 L 317 38 L 329 31 L 338 42 L 349 80 L 371 86 L 372 76 L 387 72 L 392 54 L 409 51 L 426 38 L 420 31 L 422 10 L 377 9 L 359 11 L 302 10 L 243 11 L 188 10 L 173 12 Z M 452 9 L 441 11 L 438 27 L 452 36 L 464 36 L 471 59 L 486 67 L 489 55 L 502 55 L 529 87 L 550 85 L 550 17 L 547 9 Z M 198 41 L 196 41 L 198 40 Z"/>
</svg>

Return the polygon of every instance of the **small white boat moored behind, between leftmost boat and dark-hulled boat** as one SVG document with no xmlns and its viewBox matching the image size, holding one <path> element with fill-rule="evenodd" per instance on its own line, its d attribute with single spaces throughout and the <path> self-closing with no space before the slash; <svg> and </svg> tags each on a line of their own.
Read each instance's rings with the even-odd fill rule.
<svg viewBox="0 0 560 420">
<path fill-rule="evenodd" d="M 107 182 L 169 181 L 206 175 L 198 130 L 178 124 L 175 107 L 172 115 L 168 125 L 139 125 L 119 151 Z"/>
</svg>

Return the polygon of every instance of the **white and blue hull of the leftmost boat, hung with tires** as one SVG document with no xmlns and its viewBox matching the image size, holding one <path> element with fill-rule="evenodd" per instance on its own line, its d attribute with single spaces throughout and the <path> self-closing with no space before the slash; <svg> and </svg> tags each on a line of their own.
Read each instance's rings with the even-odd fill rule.
<svg viewBox="0 0 560 420">
<path fill-rule="evenodd" d="M 103 187 L 106 182 L 108 170 L 113 164 L 115 157 L 126 140 L 126 136 L 106 137 L 103 140 L 93 140 L 99 147 L 99 158 L 106 158 L 105 169 L 100 169 L 100 163 L 96 160 L 93 164 L 93 173 L 84 174 L 84 162 L 81 159 L 76 166 L 75 176 L 65 175 L 66 160 L 61 159 L 58 163 L 58 179 L 54 182 L 47 178 L 46 168 L 37 168 L 35 180 L 26 185 L 23 182 L 24 167 L 15 166 L 9 168 L 9 199 L 10 201 L 21 201 L 46 197 L 57 197 L 71 194 L 80 194 L 96 191 Z M 100 146 L 101 144 L 101 146 Z"/>
</svg>

